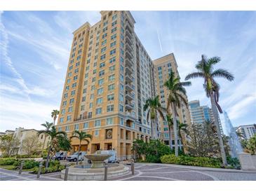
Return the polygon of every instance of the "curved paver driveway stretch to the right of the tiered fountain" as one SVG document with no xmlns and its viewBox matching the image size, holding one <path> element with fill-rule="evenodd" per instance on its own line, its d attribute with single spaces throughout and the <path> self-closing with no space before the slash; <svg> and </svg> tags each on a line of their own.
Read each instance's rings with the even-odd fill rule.
<svg viewBox="0 0 256 192">
<path fill-rule="evenodd" d="M 224 170 L 156 163 L 135 163 L 135 175 L 128 174 L 112 180 L 119 181 L 218 181 L 252 180 L 256 172 Z"/>
</svg>

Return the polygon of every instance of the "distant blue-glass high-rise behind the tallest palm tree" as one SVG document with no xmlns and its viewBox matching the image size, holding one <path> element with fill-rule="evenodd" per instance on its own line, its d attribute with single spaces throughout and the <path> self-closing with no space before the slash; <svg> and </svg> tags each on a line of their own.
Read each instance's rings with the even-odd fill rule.
<svg viewBox="0 0 256 192">
<path fill-rule="evenodd" d="M 213 110 L 208 106 L 200 106 L 199 100 L 189 102 L 189 111 L 191 116 L 191 123 L 203 123 L 205 121 L 214 122 Z M 220 125 L 220 130 L 223 133 L 220 116 L 218 116 L 218 123 Z"/>
</svg>

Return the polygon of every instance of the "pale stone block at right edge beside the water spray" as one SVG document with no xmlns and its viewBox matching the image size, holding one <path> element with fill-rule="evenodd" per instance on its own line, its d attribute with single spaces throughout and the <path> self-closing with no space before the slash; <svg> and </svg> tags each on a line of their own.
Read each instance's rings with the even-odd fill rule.
<svg viewBox="0 0 256 192">
<path fill-rule="evenodd" d="M 255 171 L 256 170 L 256 156 L 250 153 L 239 153 L 239 161 L 242 170 Z"/>
</svg>

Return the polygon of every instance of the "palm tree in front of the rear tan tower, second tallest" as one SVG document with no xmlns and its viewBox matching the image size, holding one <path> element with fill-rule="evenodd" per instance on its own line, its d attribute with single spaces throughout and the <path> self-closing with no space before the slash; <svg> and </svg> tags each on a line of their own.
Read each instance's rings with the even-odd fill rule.
<svg viewBox="0 0 256 192">
<path fill-rule="evenodd" d="M 174 129 L 174 143 L 175 143 L 175 156 L 178 156 L 177 146 L 177 107 L 180 108 L 181 102 L 187 106 L 187 100 L 184 97 L 186 90 L 183 86 L 191 85 L 190 81 L 180 82 L 179 77 L 175 77 L 173 71 L 170 71 L 170 76 L 166 83 L 166 88 L 169 90 L 167 109 L 172 111 L 173 114 L 173 129 Z"/>
</svg>

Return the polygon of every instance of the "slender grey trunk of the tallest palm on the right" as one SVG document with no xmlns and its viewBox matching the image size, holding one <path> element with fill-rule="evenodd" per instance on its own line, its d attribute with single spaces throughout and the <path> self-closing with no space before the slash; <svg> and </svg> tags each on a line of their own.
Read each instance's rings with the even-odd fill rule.
<svg viewBox="0 0 256 192">
<path fill-rule="evenodd" d="M 220 132 L 220 125 L 219 125 L 219 121 L 218 121 L 218 111 L 217 111 L 217 107 L 215 105 L 215 99 L 214 99 L 213 93 L 210 93 L 210 103 L 212 104 L 214 124 L 215 124 L 216 129 L 217 129 L 217 136 L 218 136 L 219 144 L 220 144 L 220 153 L 221 153 L 221 156 L 222 156 L 222 163 L 225 166 L 227 166 L 227 157 L 226 157 L 226 153 L 225 153 L 225 150 L 224 150 L 222 134 Z"/>
</svg>

